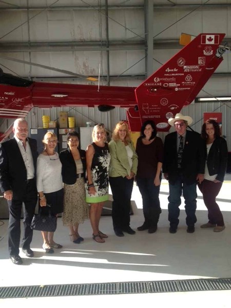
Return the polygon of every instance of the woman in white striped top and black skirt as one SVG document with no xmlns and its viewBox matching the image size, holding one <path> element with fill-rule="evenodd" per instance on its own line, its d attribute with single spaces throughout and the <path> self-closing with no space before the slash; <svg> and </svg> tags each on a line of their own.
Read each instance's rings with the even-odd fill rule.
<svg viewBox="0 0 231 308">
<path fill-rule="evenodd" d="M 57 216 L 63 212 L 63 180 L 62 164 L 59 154 L 55 152 L 57 136 L 48 131 L 43 139 L 44 151 L 37 158 L 37 191 L 40 199 L 40 207 L 47 212 Z M 49 215 L 49 213 L 47 213 Z M 53 240 L 54 233 L 42 231 L 43 249 L 46 253 L 52 254 L 53 248 L 62 248 Z"/>
</svg>

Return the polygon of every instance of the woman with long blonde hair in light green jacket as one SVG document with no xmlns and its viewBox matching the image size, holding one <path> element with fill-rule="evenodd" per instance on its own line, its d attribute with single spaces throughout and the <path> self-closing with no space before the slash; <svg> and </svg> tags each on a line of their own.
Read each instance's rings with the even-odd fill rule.
<svg viewBox="0 0 231 308">
<path fill-rule="evenodd" d="M 109 142 L 111 155 L 109 182 L 113 196 L 112 221 L 115 235 L 135 234 L 130 227 L 130 201 L 138 157 L 131 142 L 128 124 L 119 122 Z"/>
</svg>

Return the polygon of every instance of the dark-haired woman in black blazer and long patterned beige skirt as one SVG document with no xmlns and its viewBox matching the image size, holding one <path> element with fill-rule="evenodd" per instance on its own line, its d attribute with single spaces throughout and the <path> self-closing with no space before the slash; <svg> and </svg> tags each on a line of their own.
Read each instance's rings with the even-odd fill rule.
<svg viewBox="0 0 231 308">
<path fill-rule="evenodd" d="M 76 244 L 84 239 L 79 235 L 79 224 L 89 217 L 85 201 L 86 151 L 79 149 L 79 134 L 67 134 L 68 149 L 60 153 L 64 182 L 63 224 L 69 227 L 70 240 Z"/>
</svg>

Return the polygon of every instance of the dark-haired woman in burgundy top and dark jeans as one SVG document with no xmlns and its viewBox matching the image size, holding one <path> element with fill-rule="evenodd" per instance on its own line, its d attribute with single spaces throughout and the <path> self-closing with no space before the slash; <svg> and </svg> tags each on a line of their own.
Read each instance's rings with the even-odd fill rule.
<svg viewBox="0 0 231 308">
<path fill-rule="evenodd" d="M 144 223 L 137 229 L 139 231 L 148 229 L 148 233 L 156 232 L 161 213 L 159 192 L 163 142 L 156 136 L 155 123 L 151 120 L 144 122 L 136 147 L 138 155 L 137 185 L 142 195 L 144 213 Z"/>
</svg>

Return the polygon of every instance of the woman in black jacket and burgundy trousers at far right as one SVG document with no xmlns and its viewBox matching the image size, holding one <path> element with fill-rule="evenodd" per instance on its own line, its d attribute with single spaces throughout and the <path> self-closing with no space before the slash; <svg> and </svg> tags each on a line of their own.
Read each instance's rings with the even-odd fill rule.
<svg viewBox="0 0 231 308">
<path fill-rule="evenodd" d="M 207 120 L 203 124 L 201 137 L 206 146 L 207 158 L 204 181 L 198 184 L 198 187 L 208 209 L 208 222 L 201 225 L 201 228 L 214 228 L 214 232 L 221 232 L 225 225 L 216 197 L 224 181 L 228 158 L 227 143 L 221 137 L 219 124 L 215 120 Z"/>
</svg>

